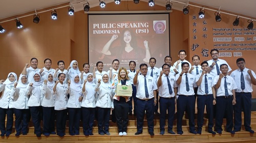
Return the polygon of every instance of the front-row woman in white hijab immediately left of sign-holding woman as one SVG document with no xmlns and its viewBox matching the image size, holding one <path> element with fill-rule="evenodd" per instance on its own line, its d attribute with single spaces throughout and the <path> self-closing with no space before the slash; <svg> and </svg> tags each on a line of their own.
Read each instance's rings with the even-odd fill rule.
<svg viewBox="0 0 256 143">
<path fill-rule="evenodd" d="M 113 90 L 109 74 L 107 72 L 102 72 L 102 78 L 99 79 L 96 84 L 96 91 L 99 94 L 96 102 L 96 106 L 98 107 L 98 132 L 100 135 L 110 135 L 109 121 L 113 100 Z"/>
</svg>

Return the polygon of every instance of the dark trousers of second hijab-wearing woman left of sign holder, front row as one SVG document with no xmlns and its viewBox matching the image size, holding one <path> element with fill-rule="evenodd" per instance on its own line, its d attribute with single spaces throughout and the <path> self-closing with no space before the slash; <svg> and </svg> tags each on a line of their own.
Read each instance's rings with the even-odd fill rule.
<svg viewBox="0 0 256 143">
<path fill-rule="evenodd" d="M 95 117 L 96 108 L 86 108 L 81 107 L 82 109 L 82 128 L 83 134 L 89 135 L 93 133 L 93 122 Z"/>
</svg>

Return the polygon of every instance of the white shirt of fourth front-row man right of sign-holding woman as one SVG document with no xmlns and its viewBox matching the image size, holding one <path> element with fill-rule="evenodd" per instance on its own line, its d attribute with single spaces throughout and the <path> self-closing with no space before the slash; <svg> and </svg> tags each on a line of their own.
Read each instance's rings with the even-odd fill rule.
<svg viewBox="0 0 256 143">
<path fill-rule="evenodd" d="M 201 75 L 202 75 L 202 73 L 196 76 L 196 82 L 199 80 Z M 214 85 L 214 76 L 207 73 L 207 74 L 203 75 L 202 82 L 201 82 L 200 86 L 198 87 L 198 90 L 197 90 L 198 95 L 205 95 L 206 94 L 205 93 L 205 75 L 206 75 L 206 78 L 207 78 L 208 94 L 212 94 L 211 87 L 212 87 L 212 85 Z"/>
</svg>

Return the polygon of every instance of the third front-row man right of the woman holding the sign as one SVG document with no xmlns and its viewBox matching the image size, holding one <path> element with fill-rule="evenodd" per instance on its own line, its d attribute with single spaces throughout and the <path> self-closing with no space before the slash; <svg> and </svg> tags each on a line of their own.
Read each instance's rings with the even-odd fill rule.
<svg viewBox="0 0 256 143">
<path fill-rule="evenodd" d="M 183 134 L 182 131 L 182 118 L 184 111 L 188 113 L 189 118 L 189 132 L 197 134 L 195 129 L 195 102 L 196 97 L 194 88 L 196 85 L 196 77 L 188 73 L 189 64 L 184 62 L 181 64 L 182 71 L 176 75 L 176 83 L 178 84 L 177 96 L 177 133 Z"/>
</svg>

